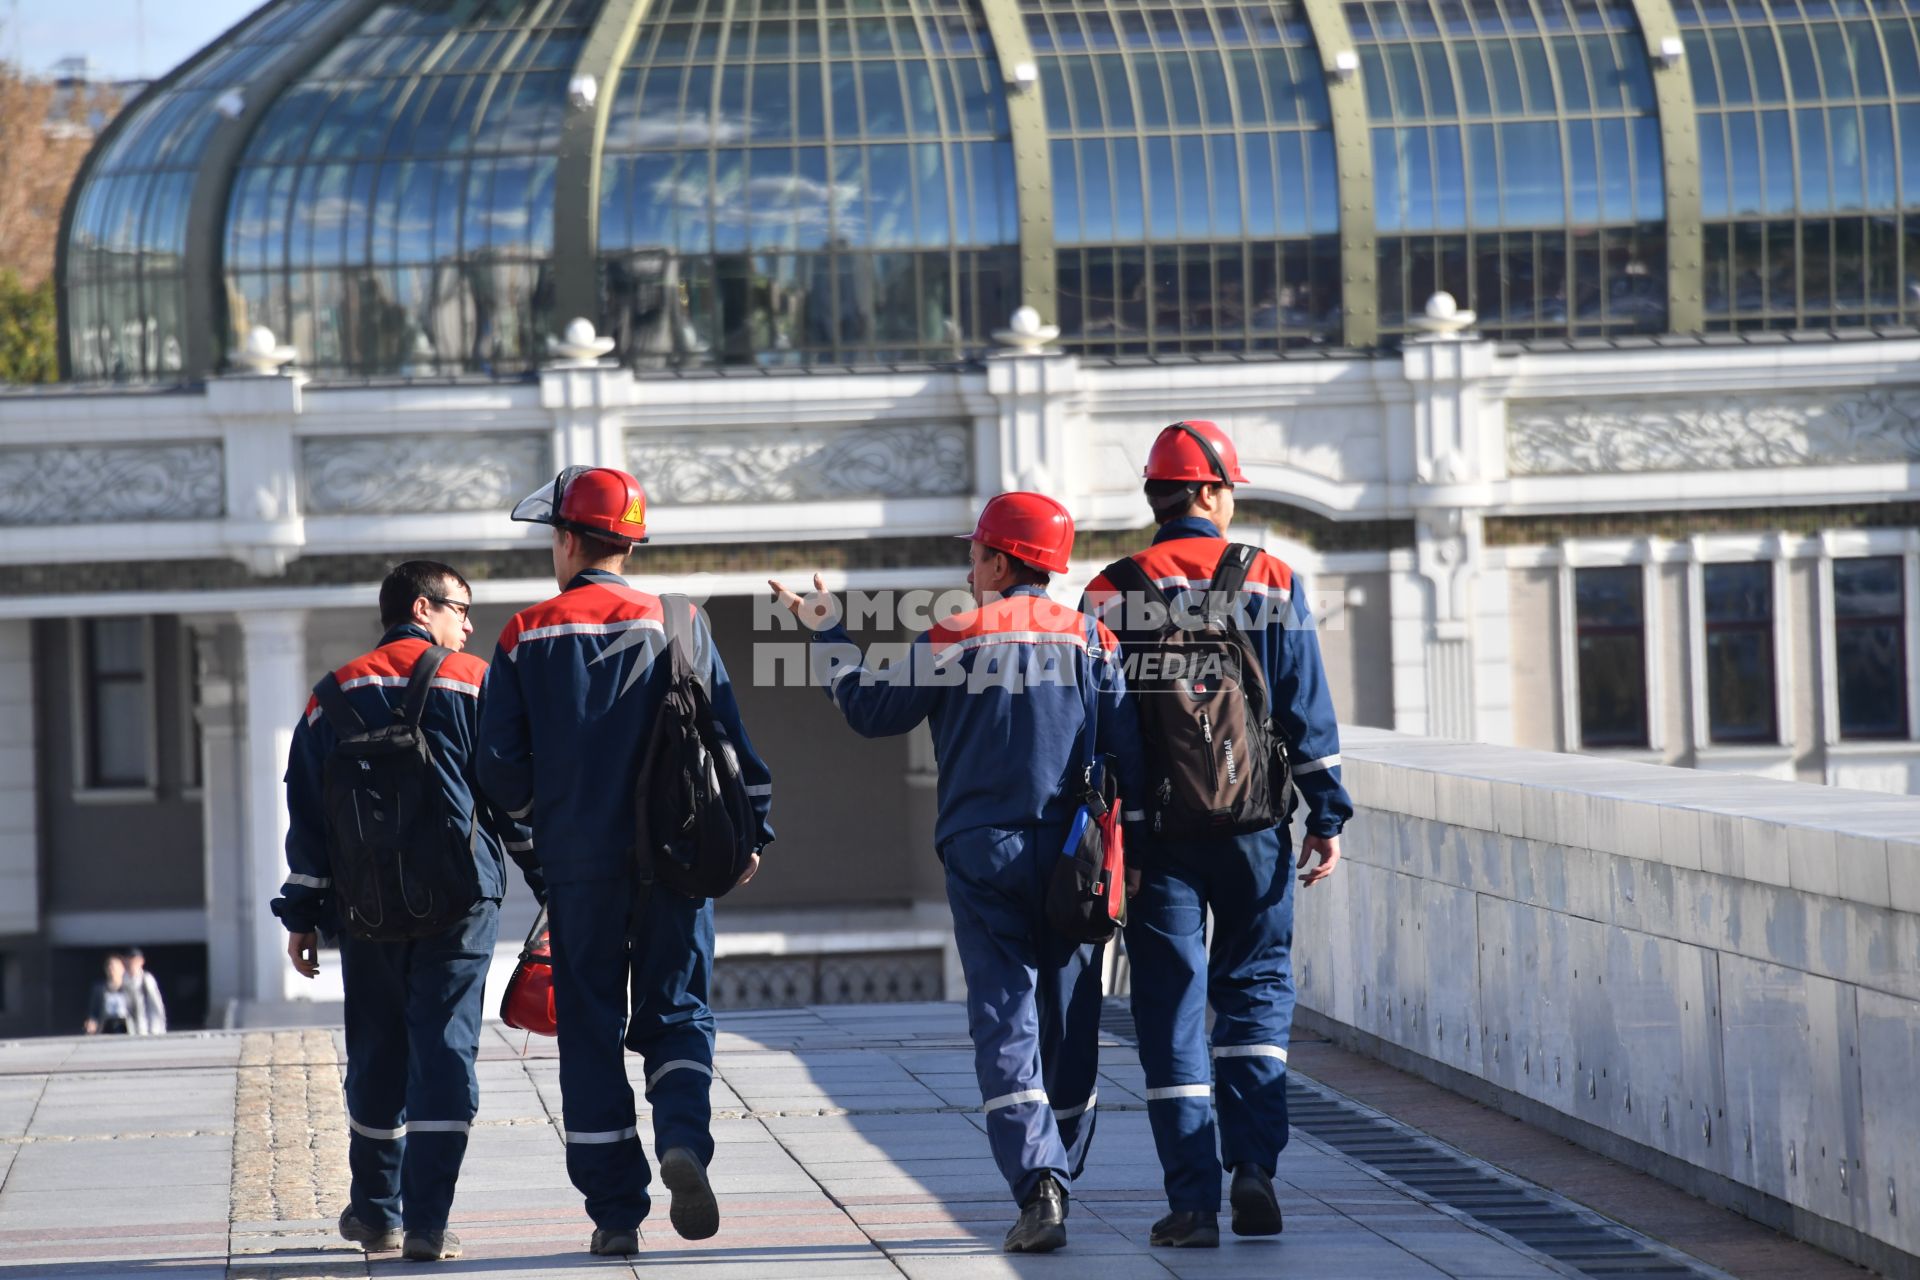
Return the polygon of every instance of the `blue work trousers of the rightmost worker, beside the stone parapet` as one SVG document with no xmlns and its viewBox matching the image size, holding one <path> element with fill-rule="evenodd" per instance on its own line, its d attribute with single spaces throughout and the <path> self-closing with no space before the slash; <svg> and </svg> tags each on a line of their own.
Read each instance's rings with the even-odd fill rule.
<svg viewBox="0 0 1920 1280">
<path fill-rule="evenodd" d="M 1221 1165 L 1258 1165 L 1271 1174 L 1286 1146 L 1292 860 L 1281 829 L 1139 852 L 1142 879 L 1127 906 L 1127 956 L 1146 1115 L 1167 1203 L 1217 1211 Z"/>
</svg>

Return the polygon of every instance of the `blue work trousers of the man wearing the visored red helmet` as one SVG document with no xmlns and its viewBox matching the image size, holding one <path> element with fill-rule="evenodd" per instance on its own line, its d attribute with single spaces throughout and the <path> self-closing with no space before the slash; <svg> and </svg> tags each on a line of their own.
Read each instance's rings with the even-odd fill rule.
<svg viewBox="0 0 1920 1280">
<path fill-rule="evenodd" d="M 566 1174 L 605 1230 L 639 1226 L 651 1205 L 624 1048 L 645 1065 L 655 1151 L 714 1153 L 712 902 L 655 889 L 630 915 L 626 877 L 547 887 Z"/>
</svg>

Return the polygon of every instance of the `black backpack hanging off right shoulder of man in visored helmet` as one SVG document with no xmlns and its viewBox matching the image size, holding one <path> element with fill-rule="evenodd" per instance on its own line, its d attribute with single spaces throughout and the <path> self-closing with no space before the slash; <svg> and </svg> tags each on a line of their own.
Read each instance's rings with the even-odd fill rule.
<svg viewBox="0 0 1920 1280">
<path fill-rule="evenodd" d="M 693 603 L 662 595 L 668 664 L 666 699 L 634 779 L 636 887 L 659 885 L 687 898 L 718 898 L 758 852 L 760 821 L 747 796 L 707 679 L 693 670 Z"/>
</svg>

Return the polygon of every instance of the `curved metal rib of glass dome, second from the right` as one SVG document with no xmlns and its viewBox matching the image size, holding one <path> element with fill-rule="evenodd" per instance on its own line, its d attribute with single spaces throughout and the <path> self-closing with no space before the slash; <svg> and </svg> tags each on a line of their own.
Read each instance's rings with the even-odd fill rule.
<svg viewBox="0 0 1920 1280">
<path fill-rule="evenodd" d="M 1373 230 L 1373 134 L 1359 52 L 1340 0 L 1302 0 L 1319 46 L 1332 115 L 1334 169 L 1340 186 L 1342 342 L 1371 347 L 1380 340 L 1380 255 Z"/>
</svg>

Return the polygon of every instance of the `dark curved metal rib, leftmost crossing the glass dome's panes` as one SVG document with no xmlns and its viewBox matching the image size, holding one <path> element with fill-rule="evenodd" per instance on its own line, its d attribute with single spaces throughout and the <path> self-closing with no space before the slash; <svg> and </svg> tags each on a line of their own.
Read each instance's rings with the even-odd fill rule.
<svg viewBox="0 0 1920 1280">
<path fill-rule="evenodd" d="M 323 13 L 273 71 L 246 86 L 238 115 L 223 117 L 207 134 L 207 148 L 200 154 L 200 171 L 194 175 L 194 196 L 186 205 L 186 251 L 180 259 L 186 284 L 184 355 L 194 378 L 215 374 L 225 357 L 217 324 L 227 280 L 221 232 L 227 228 L 227 201 L 232 198 L 234 171 L 246 144 L 261 117 L 278 102 L 280 90 L 340 44 L 378 4 L 380 0 L 349 0 Z M 280 338 L 286 340 L 288 334 Z M 313 359 L 313 351 L 301 355 Z"/>
</svg>

